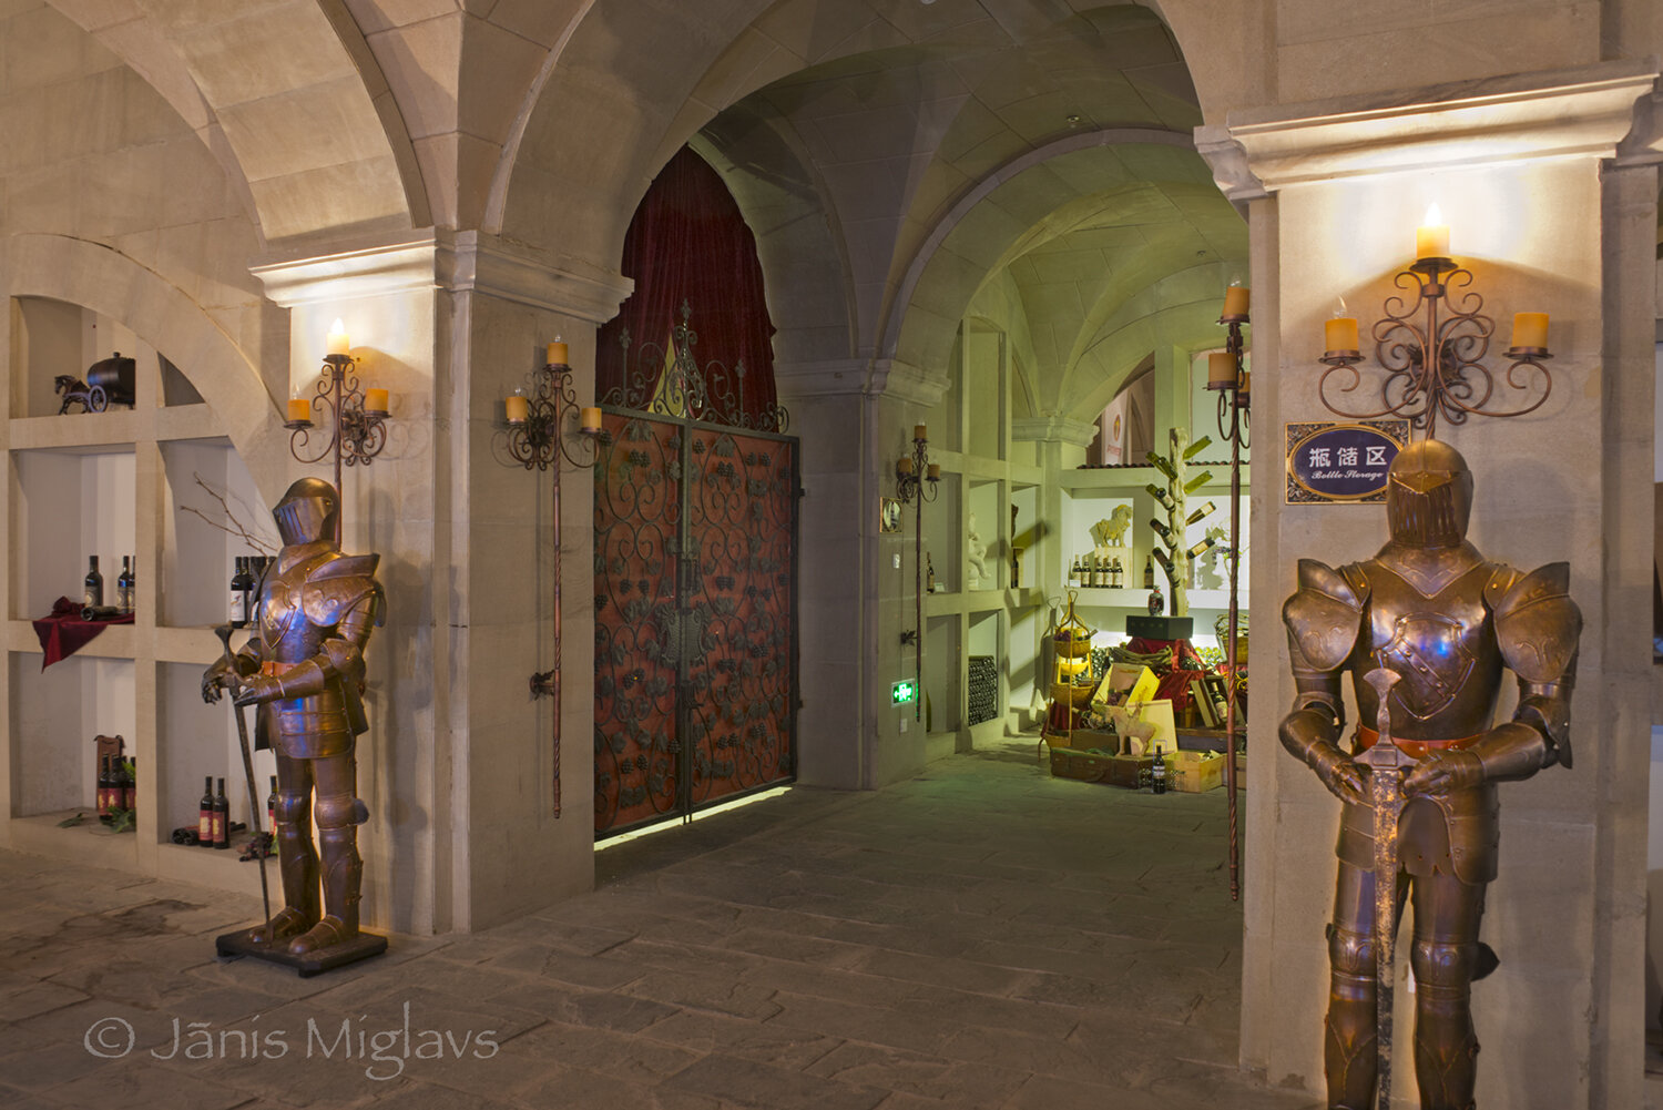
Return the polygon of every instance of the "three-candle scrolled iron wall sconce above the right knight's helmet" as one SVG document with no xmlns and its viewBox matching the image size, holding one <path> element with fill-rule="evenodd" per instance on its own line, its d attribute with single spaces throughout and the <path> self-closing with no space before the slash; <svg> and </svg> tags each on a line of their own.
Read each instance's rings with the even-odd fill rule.
<svg viewBox="0 0 1663 1110">
<path fill-rule="evenodd" d="M 1387 371 L 1380 383 L 1382 408 L 1350 411 L 1329 399 L 1329 378 L 1335 371 L 1344 368 L 1350 373 L 1350 383 L 1339 386 L 1339 393 L 1350 393 L 1362 383 L 1355 368 L 1362 353 L 1354 316 L 1337 315 L 1324 325 L 1327 349 L 1320 361 L 1329 368 L 1317 381 L 1317 396 L 1330 413 L 1350 419 L 1400 416 L 1432 438 L 1440 414 L 1452 424 L 1465 424 L 1468 416 L 1523 416 L 1547 403 L 1553 389 L 1553 376 L 1542 364 L 1553 358 L 1548 353 L 1548 315 L 1513 316 L 1513 343 L 1505 351 L 1512 364 L 1498 379 L 1483 364 L 1495 321 L 1482 315 L 1483 298 L 1468 290 L 1472 271 L 1458 266 L 1448 248 L 1448 225 L 1432 205 L 1415 231 L 1415 263 L 1395 278 L 1397 288 L 1412 296 L 1389 296 L 1382 306 L 1385 316 L 1370 330 L 1375 361 Z M 1417 316 L 1422 320 L 1417 321 Z M 1503 388 L 1530 389 L 1520 374 L 1525 366 L 1540 373 L 1542 396 L 1517 409 L 1490 408 Z"/>
</svg>

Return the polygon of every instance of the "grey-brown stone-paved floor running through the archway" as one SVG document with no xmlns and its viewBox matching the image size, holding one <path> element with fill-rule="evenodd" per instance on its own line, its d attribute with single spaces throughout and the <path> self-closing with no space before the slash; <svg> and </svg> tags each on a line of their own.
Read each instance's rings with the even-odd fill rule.
<svg viewBox="0 0 1663 1110">
<path fill-rule="evenodd" d="M 1236 1072 L 1224 802 L 1013 741 L 306 980 L 213 959 L 256 902 L 0 852 L 0 1107 L 1305 1110 Z"/>
</svg>

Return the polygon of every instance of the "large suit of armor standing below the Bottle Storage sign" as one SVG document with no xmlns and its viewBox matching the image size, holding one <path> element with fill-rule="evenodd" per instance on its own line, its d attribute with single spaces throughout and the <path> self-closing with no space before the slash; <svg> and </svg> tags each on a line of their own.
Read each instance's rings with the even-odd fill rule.
<svg viewBox="0 0 1663 1110">
<path fill-rule="evenodd" d="M 1367 769 L 1354 756 L 1379 736 L 1359 727 L 1342 751 L 1340 682 L 1352 676 L 1360 721 L 1379 696 L 1362 676 L 1399 681 L 1389 712 L 1397 746 L 1419 762 L 1404 777 L 1397 825 L 1395 904 L 1414 909 L 1415 1078 L 1425 1110 L 1473 1107 L 1478 1042 L 1472 980 L 1495 969 L 1478 942 L 1483 889 L 1495 879 L 1497 782 L 1555 762 L 1570 767 L 1570 692 L 1582 614 L 1567 596 L 1568 566 L 1522 574 L 1487 562 L 1467 543 L 1472 473 L 1448 444 L 1424 441 L 1392 464 L 1392 539 L 1364 562 L 1299 562 L 1287 599 L 1297 696 L 1281 739 L 1345 802 L 1339 880 L 1329 925 L 1329 1015 L 1324 1073 L 1334 1110 L 1374 1105 L 1375 875 Z M 1518 707 L 1493 726 L 1502 669 L 1518 679 Z M 1394 922 L 1395 925 L 1395 922 Z"/>
</svg>

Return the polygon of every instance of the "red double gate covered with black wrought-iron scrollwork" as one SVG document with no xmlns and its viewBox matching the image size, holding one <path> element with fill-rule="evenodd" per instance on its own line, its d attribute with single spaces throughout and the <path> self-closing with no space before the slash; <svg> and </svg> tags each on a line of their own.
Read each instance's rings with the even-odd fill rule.
<svg viewBox="0 0 1663 1110">
<path fill-rule="evenodd" d="M 798 701 L 797 439 L 619 408 L 604 426 L 597 839 L 792 780 Z"/>
</svg>

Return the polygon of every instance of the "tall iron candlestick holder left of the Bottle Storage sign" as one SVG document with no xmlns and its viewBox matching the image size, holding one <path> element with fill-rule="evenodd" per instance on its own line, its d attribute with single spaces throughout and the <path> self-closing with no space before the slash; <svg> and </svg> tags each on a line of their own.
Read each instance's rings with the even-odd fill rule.
<svg viewBox="0 0 1663 1110">
<path fill-rule="evenodd" d="M 1241 531 L 1242 531 L 1242 448 L 1249 446 L 1247 418 L 1251 414 L 1249 374 L 1242 368 L 1246 341 L 1242 325 L 1249 323 L 1246 290 L 1226 298 L 1226 311 L 1219 316 L 1229 333 L 1224 339 L 1224 373 L 1209 374 L 1207 388 L 1219 391 L 1219 436 L 1231 444 L 1231 553 L 1229 553 L 1229 611 L 1224 634 L 1224 792 L 1229 810 L 1229 864 L 1231 899 L 1241 900 L 1241 830 L 1236 807 L 1237 771 L 1236 749 L 1241 742 L 1241 712 L 1237 709 L 1237 621 L 1241 617 Z"/>
</svg>

